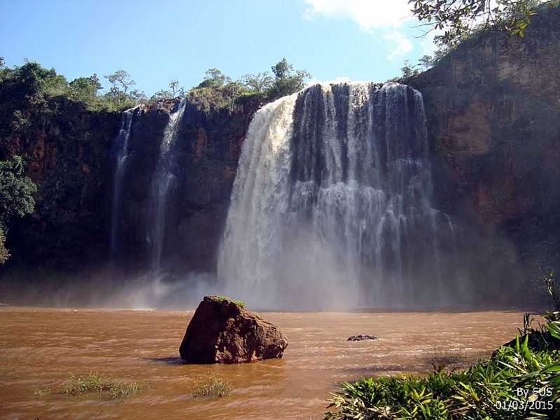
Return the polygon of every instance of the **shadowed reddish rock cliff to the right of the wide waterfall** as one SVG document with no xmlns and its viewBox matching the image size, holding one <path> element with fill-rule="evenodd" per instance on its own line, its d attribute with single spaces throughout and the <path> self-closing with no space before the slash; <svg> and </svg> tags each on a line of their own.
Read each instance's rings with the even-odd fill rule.
<svg viewBox="0 0 560 420">
<path fill-rule="evenodd" d="M 487 255 L 556 263 L 559 63 L 560 8 L 545 8 L 526 38 L 488 34 L 407 80 L 426 106 L 437 205 Z"/>
</svg>

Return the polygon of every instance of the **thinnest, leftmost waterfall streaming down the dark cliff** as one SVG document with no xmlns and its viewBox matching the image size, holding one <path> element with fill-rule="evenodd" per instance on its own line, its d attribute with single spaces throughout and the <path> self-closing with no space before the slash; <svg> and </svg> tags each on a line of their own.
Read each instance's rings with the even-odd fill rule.
<svg viewBox="0 0 560 420">
<path fill-rule="evenodd" d="M 130 127 L 134 119 L 134 112 L 137 108 L 127 109 L 123 112 L 123 120 L 120 123 L 120 130 L 113 146 L 115 155 L 115 174 L 113 178 L 113 203 L 111 206 L 111 255 L 113 258 L 118 254 L 118 235 L 120 225 L 120 198 L 123 190 L 123 176 L 128 158 L 128 139 L 130 137 Z"/>
</svg>

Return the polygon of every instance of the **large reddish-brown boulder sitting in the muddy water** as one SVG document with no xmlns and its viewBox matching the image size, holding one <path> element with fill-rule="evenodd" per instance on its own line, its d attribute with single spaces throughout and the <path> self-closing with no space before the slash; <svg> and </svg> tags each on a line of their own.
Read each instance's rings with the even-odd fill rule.
<svg viewBox="0 0 560 420">
<path fill-rule="evenodd" d="M 247 363 L 281 358 L 288 340 L 280 328 L 218 296 L 200 302 L 181 342 L 188 363 Z"/>
</svg>

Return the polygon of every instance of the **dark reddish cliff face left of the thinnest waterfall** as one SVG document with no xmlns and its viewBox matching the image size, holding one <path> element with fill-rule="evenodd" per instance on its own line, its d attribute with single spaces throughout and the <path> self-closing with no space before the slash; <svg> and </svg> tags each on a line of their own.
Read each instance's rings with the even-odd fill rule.
<svg viewBox="0 0 560 420">
<path fill-rule="evenodd" d="M 38 195 L 35 213 L 10 225 L 10 264 L 65 268 L 99 258 L 106 249 L 109 151 L 120 115 L 88 112 L 63 98 L 31 97 L 18 106 L 26 123 L 0 133 L 0 159 L 24 157 Z M 4 114 L 9 123 L 10 113 Z"/>
</svg>

